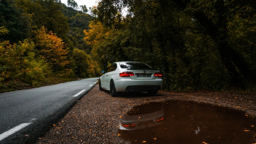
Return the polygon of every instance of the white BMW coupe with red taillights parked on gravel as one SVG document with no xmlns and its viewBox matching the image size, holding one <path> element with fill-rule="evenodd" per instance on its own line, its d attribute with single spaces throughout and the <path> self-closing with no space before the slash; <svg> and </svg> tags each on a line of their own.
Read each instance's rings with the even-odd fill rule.
<svg viewBox="0 0 256 144">
<path fill-rule="evenodd" d="M 162 89 L 162 74 L 158 69 L 151 68 L 140 62 L 115 62 L 100 77 L 99 89 L 110 91 L 112 97 L 121 91 L 146 91 L 156 95 Z"/>
</svg>

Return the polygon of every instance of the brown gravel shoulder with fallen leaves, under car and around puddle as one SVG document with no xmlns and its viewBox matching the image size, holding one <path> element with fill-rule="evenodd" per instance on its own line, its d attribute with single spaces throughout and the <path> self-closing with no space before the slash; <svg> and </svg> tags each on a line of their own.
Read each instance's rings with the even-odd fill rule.
<svg viewBox="0 0 256 144">
<path fill-rule="evenodd" d="M 206 103 L 256 116 L 255 93 L 159 91 L 152 97 L 124 93 L 112 98 L 108 91 L 99 91 L 97 84 L 37 143 L 129 143 L 117 134 L 120 116 L 136 105 L 168 100 Z"/>
</svg>

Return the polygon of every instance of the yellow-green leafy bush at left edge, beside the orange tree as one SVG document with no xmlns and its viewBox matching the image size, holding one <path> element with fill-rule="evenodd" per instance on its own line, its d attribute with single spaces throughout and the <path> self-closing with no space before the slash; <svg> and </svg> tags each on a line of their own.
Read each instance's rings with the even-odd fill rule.
<svg viewBox="0 0 256 144">
<path fill-rule="evenodd" d="M 28 40 L 13 45 L 5 41 L 0 46 L 1 79 L 19 78 L 32 85 L 45 79 L 51 70 L 46 61 L 35 57 L 34 48 L 34 43 Z"/>
</svg>

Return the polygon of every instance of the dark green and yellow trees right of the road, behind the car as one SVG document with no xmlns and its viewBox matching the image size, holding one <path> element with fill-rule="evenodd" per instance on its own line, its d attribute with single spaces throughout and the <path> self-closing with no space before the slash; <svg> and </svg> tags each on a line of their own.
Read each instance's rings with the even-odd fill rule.
<svg viewBox="0 0 256 144">
<path fill-rule="evenodd" d="M 163 73 L 167 90 L 253 89 L 255 4 L 102 0 L 84 40 L 102 68 L 120 60 L 144 62 Z M 119 17 L 124 7 L 128 14 Z"/>
</svg>

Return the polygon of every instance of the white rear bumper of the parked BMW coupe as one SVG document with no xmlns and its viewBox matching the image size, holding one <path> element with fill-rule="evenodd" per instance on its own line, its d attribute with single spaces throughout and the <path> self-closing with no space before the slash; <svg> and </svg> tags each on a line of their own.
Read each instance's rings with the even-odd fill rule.
<svg viewBox="0 0 256 144">
<path fill-rule="evenodd" d="M 134 88 L 135 91 L 153 91 L 155 88 L 161 90 L 163 87 L 163 80 L 157 79 L 145 79 L 137 80 L 130 77 L 123 77 L 121 79 L 114 80 L 116 91 L 130 91 Z"/>
</svg>

